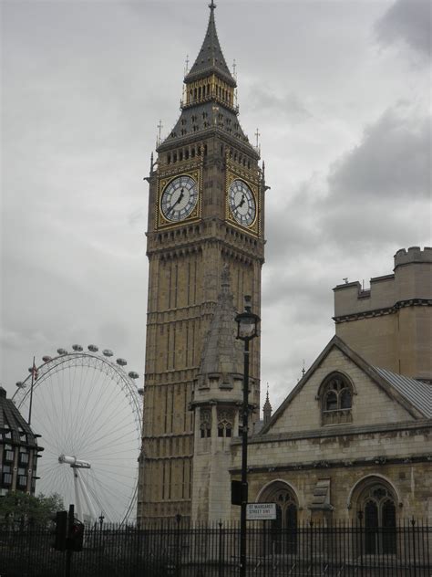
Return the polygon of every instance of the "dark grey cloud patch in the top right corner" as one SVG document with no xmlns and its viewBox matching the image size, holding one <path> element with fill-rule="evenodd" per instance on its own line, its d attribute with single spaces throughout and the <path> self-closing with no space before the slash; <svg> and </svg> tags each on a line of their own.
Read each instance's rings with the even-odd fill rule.
<svg viewBox="0 0 432 577">
<path fill-rule="evenodd" d="M 431 54 L 431 5 L 428 0 L 396 0 L 375 25 L 385 46 L 404 41 L 427 59 Z"/>
</svg>

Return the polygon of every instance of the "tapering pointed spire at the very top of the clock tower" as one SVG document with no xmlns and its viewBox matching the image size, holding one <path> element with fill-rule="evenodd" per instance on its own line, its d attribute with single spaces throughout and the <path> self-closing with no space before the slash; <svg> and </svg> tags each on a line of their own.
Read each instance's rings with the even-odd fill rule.
<svg viewBox="0 0 432 577">
<path fill-rule="evenodd" d="M 209 76 L 214 73 L 228 82 L 231 86 L 236 86 L 236 82 L 232 78 L 230 69 L 227 67 L 225 62 L 225 58 L 223 58 L 218 33 L 216 32 L 216 24 L 214 21 L 214 9 L 216 8 L 216 5 L 214 5 L 213 0 L 211 0 L 209 7 L 209 26 L 207 26 L 207 32 L 201 46 L 200 54 L 184 80 L 188 83 L 200 79 L 202 76 Z"/>
</svg>

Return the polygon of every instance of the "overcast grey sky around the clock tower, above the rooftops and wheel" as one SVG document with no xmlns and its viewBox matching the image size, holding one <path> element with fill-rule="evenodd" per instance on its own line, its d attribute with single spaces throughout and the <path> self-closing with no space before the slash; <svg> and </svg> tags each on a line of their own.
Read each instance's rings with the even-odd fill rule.
<svg viewBox="0 0 432 577">
<path fill-rule="evenodd" d="M 149 156 L 179 114 L 207 0 L 3 1 L 1 383 L 96 343 L 144 367 Z M 334 334 L 343 278 L 430 245 L 430 4 L 219 0 L 266 164 L 262 392 Z M 263 397 L 263 395 L 262 395 Z"/>
</svg>

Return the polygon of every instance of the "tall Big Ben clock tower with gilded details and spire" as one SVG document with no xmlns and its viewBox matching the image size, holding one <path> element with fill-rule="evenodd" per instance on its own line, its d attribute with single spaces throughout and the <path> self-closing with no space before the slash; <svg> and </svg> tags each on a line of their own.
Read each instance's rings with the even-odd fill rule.
<svg viewBox="0 0 432 577">
<path fill-rule="evenodd" d="M 221 51 L 213 0 L 209 7 L 201 51 L 184 79 L 180 118 L 159 143 L 147 179 L 149 298 L 139 520 L 177 514 L 190 519 L 196 445 L 196 415 L 190 409 L 221 278 L 235 309 L 242 310 L 244 295 L 252 296 L 254 312 L 261 309 L 264 174 L 259 152 L 239 123 L 236 80 Z M 250 366 L 250 398 L 259 404 L 259 339 L 252 341 Z M 218 389 L 222 400 L 225 388 Z M 232 435 L 238 435 L 234 428 Z"/>
</svg>

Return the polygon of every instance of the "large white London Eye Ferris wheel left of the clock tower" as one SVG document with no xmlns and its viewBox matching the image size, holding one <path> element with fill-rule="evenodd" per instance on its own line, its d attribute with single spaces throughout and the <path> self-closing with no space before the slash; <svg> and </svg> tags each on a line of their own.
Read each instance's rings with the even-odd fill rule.
<svg viewBox="0 0 432 577">
<path fill-rule="evenodd" d="M 90 523 L 123 523 L 136 512 L 142 389 L 139 374 L 112 356 L 96 345 L 57 349 L 29 369 L 13 396 L 44 447 L 36 493 L 58 493 Z"/>
</svg>

